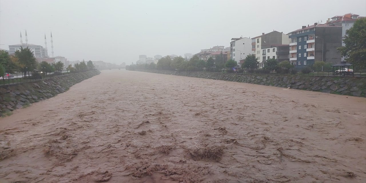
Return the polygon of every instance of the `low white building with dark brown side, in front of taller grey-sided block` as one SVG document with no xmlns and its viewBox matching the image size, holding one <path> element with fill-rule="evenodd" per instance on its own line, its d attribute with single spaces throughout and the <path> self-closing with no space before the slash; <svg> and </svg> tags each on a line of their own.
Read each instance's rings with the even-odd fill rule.
<svg viewBox="0 0 366 183">
<path fill-rule="evenodd" d="M 268 59 L 276 59 L 277 62 L 288 60 L 289 49 L 289 45 L 269 45 L 269 48 L 262 49 L 262 61 L 265 64 Z"/>
</svg>

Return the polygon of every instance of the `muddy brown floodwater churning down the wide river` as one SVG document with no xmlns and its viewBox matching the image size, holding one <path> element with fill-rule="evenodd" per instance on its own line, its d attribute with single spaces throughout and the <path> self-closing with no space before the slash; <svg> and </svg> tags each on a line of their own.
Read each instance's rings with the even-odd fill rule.
<svg viewBox="0 0 366 183">
<path fill-rule="evenodd" d="M 102 71 L 0 122 L 1 182 L 366 181 L 366 99 Z"/>
</svg>

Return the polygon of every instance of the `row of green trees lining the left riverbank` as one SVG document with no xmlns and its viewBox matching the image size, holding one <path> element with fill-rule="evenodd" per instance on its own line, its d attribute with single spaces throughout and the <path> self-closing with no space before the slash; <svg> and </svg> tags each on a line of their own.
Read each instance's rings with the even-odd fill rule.
<svg viewBox="0 0 366 183">
<path fill-rule="evenodd" d="M 41 61 L 38 63 L 34 57 L 33 52 L 29 48 L 20 48 L 16 50 L 14 55 L 9 55 L 7 51 L 0 51 L 0 76 L 3 77 L 5 74 L 14 74 L 15 72 L 22 72 L 26 76 L 27 72 L 34 72 L 39 70 L 44 75 L 48 75 L 52 72 L 61 73 L 64 69 L 64 63 L 57 61 L 56 63 L 48 63 L 46 61 Z M 70 72 L 83 72 L 88 70 L 93 70 L 94 65 L 91 60 L 87 63 L 83 60 L 80 64 L 71 64 L 67 67 Z"/>
</svg>

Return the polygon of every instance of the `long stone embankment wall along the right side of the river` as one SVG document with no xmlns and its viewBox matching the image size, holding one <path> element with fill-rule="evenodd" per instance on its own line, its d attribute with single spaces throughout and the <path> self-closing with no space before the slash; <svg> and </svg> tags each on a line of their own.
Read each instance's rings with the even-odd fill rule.
<svg viewBox="0 0 366 183">
<path fill-rule="evenodd" d="M 252 83 L 257 85 L 290 87 L 292 89 L 320 91 L 349 96 L 366 97 L 365 77 L 342 77 L 342 76 L 307 76 L 307 75 L 249 75 L 249 74 L 223 74 L 212 72 L 180 72 L 166 70 L 145 70 L 137 71 L 153 72 L 158 74 L 169 74 L 189 76 L 196 78 L 216 79 L 223 81 L 234 81 Z"/>
</svg>

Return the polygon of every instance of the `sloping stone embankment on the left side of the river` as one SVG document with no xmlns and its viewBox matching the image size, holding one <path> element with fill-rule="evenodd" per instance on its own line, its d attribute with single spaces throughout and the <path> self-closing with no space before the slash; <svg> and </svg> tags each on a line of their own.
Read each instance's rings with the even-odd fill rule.
<svg viewBox="0 0 366 183">
<path fill-rule="evenodd" d="M 35 82 L 0 86 L 0 116 L 9 115 L 14 109 L 26 107 L 33 102 L 56 96 L 72 85 L 98 74 L 100 71 L 93 70 Z"/>
</svg>

